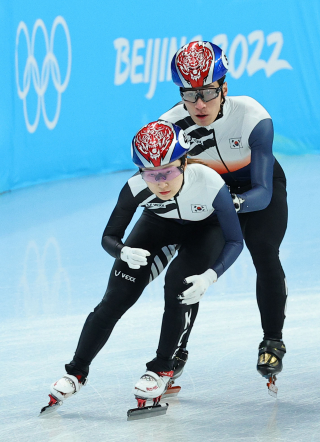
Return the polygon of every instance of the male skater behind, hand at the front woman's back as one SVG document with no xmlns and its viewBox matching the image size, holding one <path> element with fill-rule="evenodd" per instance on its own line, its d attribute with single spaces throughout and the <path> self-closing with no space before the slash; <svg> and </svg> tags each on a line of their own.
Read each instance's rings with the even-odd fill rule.
<svg viewBox="0 0 320 442">
<path fill-rule="evenodd" d="M 249 96 L 226 96 L 227 70 L 228 60 L 215 44 L 192 41 L 182 46 L 171 62 L 182 101 L 159 120 L 181 127 L 190 139 L 192 160 L 217 171 L 229 186 L 257 274 L 264 332 L 257 370 L 274 379 L 285 353 L 287 289 L 278 253 L 287 224 L 286 180 L 272 154 L 270 115 Z"/>
</svg>

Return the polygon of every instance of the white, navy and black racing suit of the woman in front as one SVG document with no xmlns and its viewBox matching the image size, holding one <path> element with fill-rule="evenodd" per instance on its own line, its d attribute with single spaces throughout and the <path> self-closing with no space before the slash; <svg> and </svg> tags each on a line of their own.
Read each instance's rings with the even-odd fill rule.
<svg viewBox="0 0 320 442">
<path fill-rule="evenodd" d="M 141 217 L 125 245 L 150 252 L 148 264 L 131 269 L 120 259 L 121 239 L 136 208 Z M 107 341 L 115 323 L 133 305 L 149 282 L 151 265 L 166 265 L 159 250 L 174 254 L 168 244 L 180 244 L 178 255 L 168 266 L 164 285 L 164 313 L 156 358 L 148 362 L 152 371 L 169 371 L 179 347 L 185 347 L 198 303 L 180 304 L 177 299 L 186 276 L 208 268 L 220 276 L 243 247 L 242 233 L 230 193 L 221 177 L 202 164 L 186 167 L 180 191 L 169 200 L 157 198 L 139 173 L 128 179 L 102 236 L 103 248 L 116 259 L 106 292 L 82 329 L 73 360 L 65 365 L 69 374 L 86 376 L 89 364 Z M 138 319 L 137 319 L 138 320 Z M 147 333 L 147 331 L 146 331 Z M 125 339 L 125 336 L 123 337 Z"/>
</svg>

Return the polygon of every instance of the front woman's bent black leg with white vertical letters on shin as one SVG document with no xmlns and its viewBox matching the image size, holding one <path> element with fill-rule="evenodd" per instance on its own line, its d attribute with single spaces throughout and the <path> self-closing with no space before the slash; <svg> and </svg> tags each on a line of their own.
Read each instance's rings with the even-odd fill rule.
<svg viewBox="0 0 320 442">
<path fill-rule="evenodd" d="M 185 230 L 178 255 L 170 263 L 165 275 L 165 306 L 159 345 L 156 358 L 146 364 L 151 371 L 172 370 L 175 352 L 186 346 L 199 304 L 179 303 L 177 295 L 188 287 L 183 284 L 183 279 L 207 270 L 224 245 L 219 225 Z"/>
</svg>

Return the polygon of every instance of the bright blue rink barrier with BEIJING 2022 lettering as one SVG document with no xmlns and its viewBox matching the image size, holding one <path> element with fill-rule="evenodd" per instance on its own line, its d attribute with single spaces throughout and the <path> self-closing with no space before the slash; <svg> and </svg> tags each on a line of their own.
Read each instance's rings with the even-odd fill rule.
<svg viewBox="0 0 320 442">
<path fill-rule="evenodd" d="M 274 150 L 319 153 L 320 3 L 0 2 L 0 192 L 131 168 L 136 130 L 179 100 L 170 60 L 205 39 L 230 95 L 271 114 Z"/>
</svg>

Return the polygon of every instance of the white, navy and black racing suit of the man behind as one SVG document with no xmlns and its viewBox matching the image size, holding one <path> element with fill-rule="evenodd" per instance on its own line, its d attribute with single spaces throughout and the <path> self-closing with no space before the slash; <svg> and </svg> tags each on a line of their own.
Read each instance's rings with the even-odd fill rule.
<svg viewBox="0 0 320 442">
<path fill-rule="evenodd" d="M 249 96 L 226 96 L 222 112 L 208 126 L 195 124 L 183 102 L 159 119 L 184 129 L 191 140 L 188 154 L 216 170 L 244 199 L 238 216 L 257 273 L 264 337 L 281 339 L 286 281 L 278 254 L 287 224 L 286 180 L 272 154 L 270 115 Z"/>
</svg>

